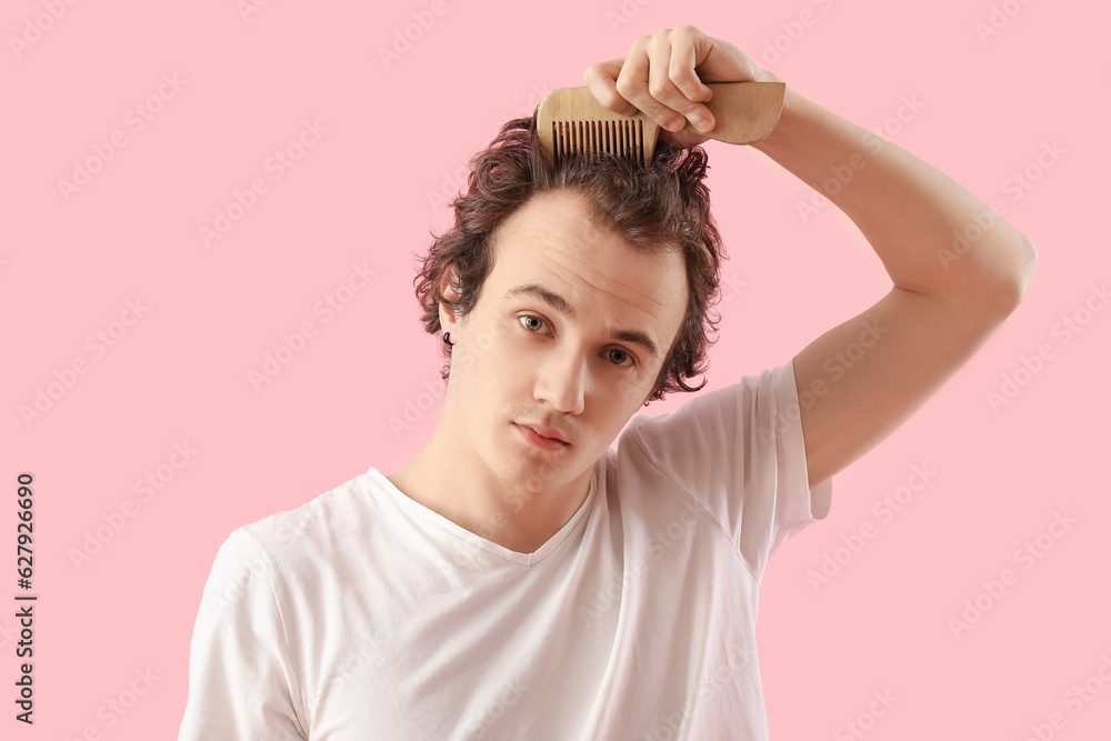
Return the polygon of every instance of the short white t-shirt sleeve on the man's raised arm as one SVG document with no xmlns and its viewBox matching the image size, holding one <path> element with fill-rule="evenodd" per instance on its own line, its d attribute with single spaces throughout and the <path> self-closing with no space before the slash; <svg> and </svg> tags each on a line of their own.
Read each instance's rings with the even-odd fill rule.
<svg viewBox="0 0 1111 741">
<path fill-rule="evenodd" d="M 757 579 L 784 540 L 829 513 L 832 478 L 808 483 L 793 358 L 633 420 L 628 434 L 718 520 Z"/>
</svg>

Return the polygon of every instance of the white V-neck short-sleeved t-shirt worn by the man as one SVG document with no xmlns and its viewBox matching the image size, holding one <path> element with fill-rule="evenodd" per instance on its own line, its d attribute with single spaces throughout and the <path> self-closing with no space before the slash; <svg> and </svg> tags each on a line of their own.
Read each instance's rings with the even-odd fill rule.
<svg viewBox="0 0 1111 741">
<path fill-rule="evenodd" d="M 220 548 L 179 739 L 767 739 L 760 579 L 831 494 L 793 361 L 635 414 L 533 553 L 372 468 Z"/>
</svg>

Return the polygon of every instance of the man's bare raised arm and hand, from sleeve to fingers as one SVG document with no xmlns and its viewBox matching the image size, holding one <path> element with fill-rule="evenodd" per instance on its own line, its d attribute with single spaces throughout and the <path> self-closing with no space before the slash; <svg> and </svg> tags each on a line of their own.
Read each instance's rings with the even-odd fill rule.
<svg viewBox="0 0 1111 741">
<path fill-rule="evenodd" d="M 583 78 L 603 106 L 634 106 L 672 131 L 682 117 L 698 127 L 709 116 L 703 82 L 779 81 L 690 26 L 641 37 L 627 57 Z M 704 140 L 668 137 L 678 146 Z M 1021 301 L 1038 253 L 951 178 L 790 86 L 779 124 L 752 147 L 844 211 L 893 284 L 794 358 L 813 485 L 877 445 L 968 362 Z"/>
</svg>

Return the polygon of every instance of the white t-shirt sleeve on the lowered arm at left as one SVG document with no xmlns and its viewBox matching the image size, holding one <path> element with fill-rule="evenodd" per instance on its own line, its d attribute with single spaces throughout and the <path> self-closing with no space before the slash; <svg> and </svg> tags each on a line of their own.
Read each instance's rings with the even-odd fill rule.
<svg viewBox="0 0 1111 741">
<path fill-rule="evenodd" d="M 236 530 L 204 584 L 178 740 L 303 740 L 302 719 L 271 562 Z"/>
</svg>

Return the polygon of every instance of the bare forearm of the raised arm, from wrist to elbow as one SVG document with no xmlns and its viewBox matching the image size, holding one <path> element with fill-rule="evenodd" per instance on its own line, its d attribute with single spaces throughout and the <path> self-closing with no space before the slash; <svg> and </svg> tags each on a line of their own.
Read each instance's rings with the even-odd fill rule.
<svg viewBox="0 0 1111 741">
<path fill-rule="evenodd" d="M 772 133 L 752 144 L 860 229 L 892 282 L 918 293 L 1021 299 L 1037 252 L 968 189 L 790 86 Z"/>
</svg>

